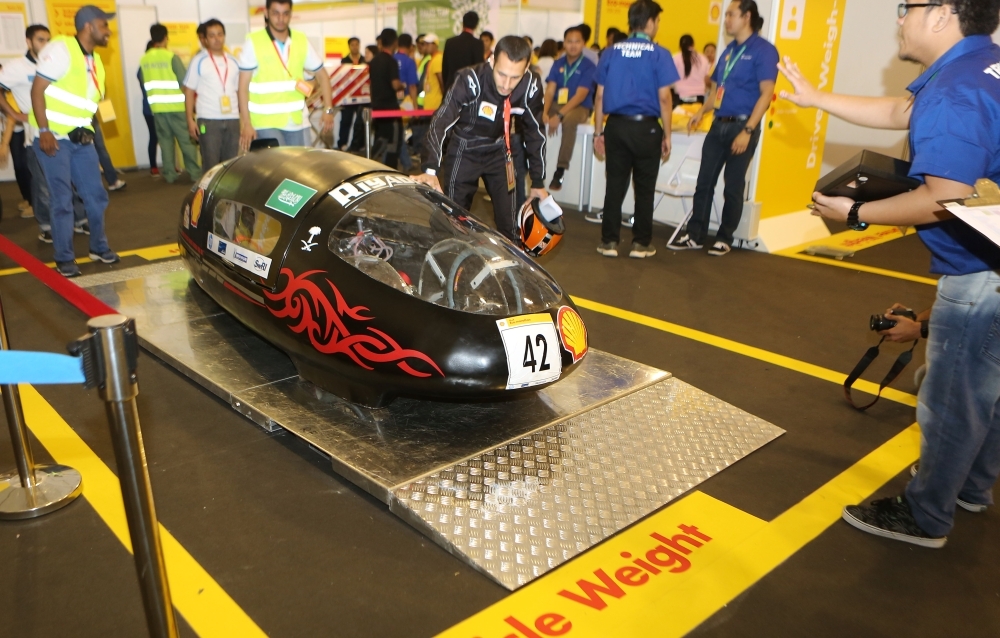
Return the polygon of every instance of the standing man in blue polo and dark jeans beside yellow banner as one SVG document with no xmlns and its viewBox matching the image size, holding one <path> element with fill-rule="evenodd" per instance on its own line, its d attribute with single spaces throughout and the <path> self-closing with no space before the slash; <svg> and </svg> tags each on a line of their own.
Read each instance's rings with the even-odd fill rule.
<svg viewBox="0 0 1000 638">
<path fill-rule="evenodd" d="M 743 217 L 747 169 L 760 141 L 760 122 L 771 105 L 778 79 L 778 50 L 760 37 L 763 26 L 764 19 L 754 0 L 734 0 L 726 9 L 726 34 L 733 41 L 719 56 L 712 88 L 701 110 L 691 118 L 688 130 L 696 129 L 713 110 L 715 120 L 702 148 L 687 232 L 667 245 L 671 250 L 700 249 L 705 244 L 715 185 L 725 167 L 722 223 L 708 254 L 718 257 L 730 251 L 733 233 Z"/>
</svg>

